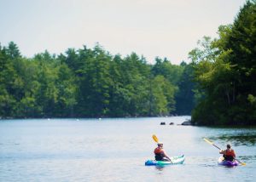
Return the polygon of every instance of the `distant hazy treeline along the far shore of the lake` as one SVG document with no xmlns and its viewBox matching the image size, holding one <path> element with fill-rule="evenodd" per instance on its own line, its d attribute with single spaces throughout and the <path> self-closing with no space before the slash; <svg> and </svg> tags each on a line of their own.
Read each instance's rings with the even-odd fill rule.
<svg viewBox="0 0 256 182">
<path fill-rule="evenodd" d="M 189 115 L 191 66 L 95 48 L 45 51 L 32 59 L 13 42 L 0 47 L 0 117 L 145 117 Z"/>
</svg>

